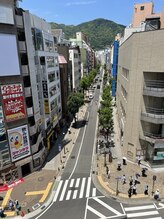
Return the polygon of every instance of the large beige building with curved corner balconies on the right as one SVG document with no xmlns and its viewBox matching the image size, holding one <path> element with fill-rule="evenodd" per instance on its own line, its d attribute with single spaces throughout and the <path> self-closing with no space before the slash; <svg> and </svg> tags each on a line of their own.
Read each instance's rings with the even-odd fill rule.
<svg viewBox="0 0 164 219">
<path fill-rule="evenodd" d="M 164 30 L 133 33 L 119 47 L 116 104 L 124 156 L 164 165 Z"/>
</svg>

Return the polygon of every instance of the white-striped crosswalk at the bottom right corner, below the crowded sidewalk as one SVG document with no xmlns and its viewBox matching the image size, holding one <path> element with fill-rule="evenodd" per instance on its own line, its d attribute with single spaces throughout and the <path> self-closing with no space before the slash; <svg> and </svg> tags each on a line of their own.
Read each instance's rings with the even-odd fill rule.
<svg viewBox="0 0 164 219">
<path fill-rule="evenodd" d="M 154 204 L 124 207 L 124 211 L 127 215 L 127 218 L 162 219 Z"/>
</svg>

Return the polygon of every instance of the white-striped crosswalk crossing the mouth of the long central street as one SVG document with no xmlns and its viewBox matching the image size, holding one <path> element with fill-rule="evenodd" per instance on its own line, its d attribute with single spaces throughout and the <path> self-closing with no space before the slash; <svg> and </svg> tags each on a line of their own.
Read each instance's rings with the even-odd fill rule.
<svg viewBox="0 0 164 219">
<path fill-rule="evenodd" d="M 53 202 L 96 196 L 96 188 L 91 186 L 91 177 L 60 180 Z"/>
</svg>

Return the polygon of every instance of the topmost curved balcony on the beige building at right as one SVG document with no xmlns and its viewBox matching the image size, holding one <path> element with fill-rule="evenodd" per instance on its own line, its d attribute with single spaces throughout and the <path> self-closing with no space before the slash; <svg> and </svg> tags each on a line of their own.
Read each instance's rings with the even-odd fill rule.
<svg viewBox="0 0 164 219">
<path fill-rule="evenodd" d="M 164 97 L 164 81 L 145 80 L 143 95 Z"/>
</svg>

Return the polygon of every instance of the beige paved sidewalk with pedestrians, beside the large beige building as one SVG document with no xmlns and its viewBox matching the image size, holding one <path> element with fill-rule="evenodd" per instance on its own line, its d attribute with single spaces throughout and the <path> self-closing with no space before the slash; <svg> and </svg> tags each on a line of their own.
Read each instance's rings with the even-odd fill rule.
<svg viewBox="0 0 164 219">
<path fill-rule="evenodd" d="M 133 163 L 127 160 L 127 165 L 123 165 L 122 153 L 121 153 L 121 142 L 120 142 L 120 133 L 118 126 L 117 118 L 117 109 L 113 109 L 113 118 L 114 118 L 114 143 L 115 147 L 111 148 L 113 160 L 109 162 L 109 155 L 106 155 L 106 161 L 104 154 L 98 154 L 95 159 L 97 166 L 95 172 L 97 174 L 97 182 L 101 184 L 101 187 L 104 189 L 105 194 L 108 196 L 113 196 L 115 198 L 121 199 L 126 202 L 136 202 L 136 201 L 150 201 L 153 199 L 152 192 L 155 192 L 157 189 L 160 191 L 161 201 L 164 200 L 164 169 L 151 169 L 148 164 L 144 161 L 141 161 L 141 165 Z M 104 164 L 107 164 L 110 171 L 110 177 L 108 178 L 106 173 L 106 167 Z M 121 163 L 121 170 L 117 170 L 118 163 Z M 146 175 L 142 177 L 142 169 L 146 168 Z M 128 196 L 128 190 L 130 188 L 129 178 L 134 177 L 138 173 L 139 183 L 136 185 L 137 195 L 132 195 L 131 198 Z M 122 176 L 125 175 L 126 183 L 123 184 Z M 157 177 L 157 180 L 153 184 L 153 176 Z M 148 185 L 148 195 L 144 194 L 145 185 Z M 103 190 L 102 190 L 103 191 Z"/>
</svg>

